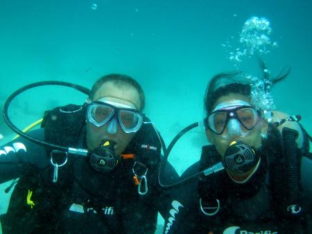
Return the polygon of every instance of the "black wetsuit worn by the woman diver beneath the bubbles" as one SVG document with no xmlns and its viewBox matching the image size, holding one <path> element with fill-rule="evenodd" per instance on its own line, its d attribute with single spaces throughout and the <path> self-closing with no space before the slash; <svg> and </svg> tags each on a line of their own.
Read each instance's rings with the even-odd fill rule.
<svg viewBox="0 0 312 234">
<path fill-rule="evenodd" d="M 268 138 L 267 142 L 270 140 Z M 272 144 L 271 149 L 277 149 L 277 153 L 279 145 Z M 268 150 L 268 158 L 272 158 L 272 154 L 274 152 Z M 166 220 L 164 233 L 312 233 L 312 161 L 305 156 L 300 157 L 300 204 L 303 212 L 300 218 L 292 219 L 279 206 L 284 199 L 279 191 L 284 190 L 283 184 L 287 181 L 281 175 L 283 165 L 281 161 L 274 165 L 262 158 L 265 157 L 261 156 L 259 170 L 254 178 L 245 184 L 234 183 L 227 172 L 222 170 L 209 178 L 196 179 L 177 188 L 180 196 L 173 201 L 171 217 Z M 190 177 L 219 161 L 220 155 L 215 147 L 205 146 L 200 161 L 191 165 L 181 178 Z M 277 178 L 277 181 L 272 178 Z M 218 199 L 218 213 L 204 215 L 200 209 L 200 198 L 203 207 L 215 207 L 209 213 L 218 207 Z M 210 198 L 212 200 L 209 201 Z M 207 209 L 205 211 L 208 212 Z"/>
</svg>

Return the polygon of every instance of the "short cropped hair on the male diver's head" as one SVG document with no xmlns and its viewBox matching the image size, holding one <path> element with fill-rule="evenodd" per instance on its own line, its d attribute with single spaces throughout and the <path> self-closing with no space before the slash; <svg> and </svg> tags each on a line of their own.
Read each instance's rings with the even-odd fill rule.
<svg viewBox="0 0 312 234">
<path fill-rule="evenodd" d="M 140 99 L 140 107 L 139 111 L 142 111 L 145 107 L 145 94 L 141 87 L 141 85 L 133 78 L 131 78 L 128 75 L 123 74 L 109 74 L 104 75 L 100 79 L 96 80 L 94 83 L 90 93 L 89 93 L 89 99 L 94 100 L 94 95 L 98 89 L 102 87 L 102 85 L 106 82 L 112 82 L 116 87 L 118 88 L 126 88 L 127 86 L 131 86 L 137 90 L 139 93 L 139 99 Z"/>
</svg>

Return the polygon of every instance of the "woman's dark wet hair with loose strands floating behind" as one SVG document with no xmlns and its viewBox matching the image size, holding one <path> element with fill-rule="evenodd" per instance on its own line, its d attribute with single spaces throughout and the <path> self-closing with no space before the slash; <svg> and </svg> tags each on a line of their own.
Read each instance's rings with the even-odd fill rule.
<svg viewBox="0 0 312 234">
<path fill-rule="evenodd" d="M 259 65 L 262 71 L 263 80 L 272 80 L 272 84 L 284 80 L 290 73 L 291 69 L 284 68 L 275 78 L 270 78 L 270 74 L 266 69 L 266 64 L 259 60 Z M 219 73 L 215 75 L 208 83 L 204 103 L 205 111 L 208 116 L 211 114 L 212 108 L 216 101 L 223 96 L 227 96 L 230 93 L 238 93 L 250 98 L 250 80 L 246 78 L 241 71 L 234 71 L 229 73 Z"/>
</svg>

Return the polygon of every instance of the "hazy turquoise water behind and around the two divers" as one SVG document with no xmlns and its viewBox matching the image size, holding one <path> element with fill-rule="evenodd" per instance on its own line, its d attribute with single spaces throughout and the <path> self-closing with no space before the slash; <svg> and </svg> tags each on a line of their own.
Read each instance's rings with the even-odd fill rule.
<svg viewBox="0 0 312 234">
<path fill-rule="evenodd" d="M 202 100 L 213 75 L 241 70 L 259 77 L 261 57 L 272 77 L 291 67 L 272 88 L 276 109 L 300 114 L 312 133 L 311 9 L 311 0 L 0 0 L 0 105 L 32 82 L 91 88 L 107 73 L 125 73 L 142 85 L 144 112 L 168 145 L 204 117 Z M 44 110 L 85 98 L 69 88 L 36 88 L 13 101 L 9 114 L 23 129 Z M 1 145 L 14 136 L 2 116 L 0 134 Z M 194 129 L 168 160 L 181 174 L 205 144 L 205 132 Z M 0 186 L 0 213 L 6 212 L 8 185 Z"/>
</svg>

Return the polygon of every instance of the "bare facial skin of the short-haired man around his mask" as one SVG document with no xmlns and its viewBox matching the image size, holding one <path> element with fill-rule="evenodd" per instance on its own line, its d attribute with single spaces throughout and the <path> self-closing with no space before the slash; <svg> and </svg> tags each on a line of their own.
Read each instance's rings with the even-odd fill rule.
<svg viewBox="0 0 312 234">
<path fill-rule="evenodd" d="M 105 82 L 94 95 L 96 101 L 101 98 L 116 104 L 127 105 L 130 108 L 137 109 L 141 108 L 139 99 L 139 93 L 137 90 L 130 85 L 125 87 L 116 87 L 112 82 Z M 96 127 L 92 123 L 87 121 L 87 146 L 89 150 L 94 150 L 99 147 L 104 140 L 113 141 L 116 143 L 114 150 L 116 154 L 122 154 L 125 147 L 130 143 L 135 133 L 125 133 L 119 126 L 116 127 L 116 131 L 107 131 L 107 127 L 110 122 L 106 123 L 101 127 Z"/>
</svg>

